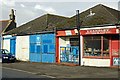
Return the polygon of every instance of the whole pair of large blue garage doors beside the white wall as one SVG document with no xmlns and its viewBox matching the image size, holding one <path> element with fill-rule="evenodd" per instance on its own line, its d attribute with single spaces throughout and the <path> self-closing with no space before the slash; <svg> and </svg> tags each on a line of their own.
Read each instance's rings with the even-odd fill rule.
<svg viewBox="0 0 120 80">
<path fill-rule="evenodd" d="M 55 62 L 55 35 L 40 34 L 30 36 L 30 61 Z"/>
</svg>

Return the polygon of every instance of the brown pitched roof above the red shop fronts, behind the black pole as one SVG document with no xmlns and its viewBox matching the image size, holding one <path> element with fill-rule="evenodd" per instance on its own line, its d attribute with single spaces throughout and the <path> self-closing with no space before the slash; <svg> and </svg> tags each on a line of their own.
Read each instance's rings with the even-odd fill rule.
<svg viewBox="0 0 120 80">
<path fill-rule="evenodd" d="M 90 11 L 92 11 L 94 15 L 90 16 Z M 82 27 L 103 24 L 117 24 L 120 21 L 120 11 L 99 4 L 80 13 L 80 21 L 82 23 Z M 64 27 L 75 27 L 76 15 L 72 16 L 66 22 L 67 23 L 59 23 L 59 25 L 63 25 Z"/>
</svg>

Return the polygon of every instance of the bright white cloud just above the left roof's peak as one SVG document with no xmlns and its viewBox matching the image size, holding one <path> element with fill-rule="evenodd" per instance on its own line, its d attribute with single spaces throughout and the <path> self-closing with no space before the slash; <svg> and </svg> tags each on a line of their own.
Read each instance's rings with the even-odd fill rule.
<svg viewBox="0 0 120 80">
<path fill-rule="evenodd" d="M 53 9 L 52 7 L 45 7 L 45 6 L 41 6 L 41 5 L 35 5 L 34 8 L 42 10 L 42 11 L 47 12 L 47 13 L 56 13 L 56 10 Z"/>
</svg>

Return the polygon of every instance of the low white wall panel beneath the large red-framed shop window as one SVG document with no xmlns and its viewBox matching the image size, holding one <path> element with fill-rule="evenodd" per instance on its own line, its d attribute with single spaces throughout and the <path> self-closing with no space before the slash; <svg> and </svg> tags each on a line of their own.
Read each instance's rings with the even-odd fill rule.
<svg viewBox="0 0 120 80">
<path fill-rule="evenodd" d="M 110 67 L 110 59 L 82 58 L 84 66 Z"/>
</svg>

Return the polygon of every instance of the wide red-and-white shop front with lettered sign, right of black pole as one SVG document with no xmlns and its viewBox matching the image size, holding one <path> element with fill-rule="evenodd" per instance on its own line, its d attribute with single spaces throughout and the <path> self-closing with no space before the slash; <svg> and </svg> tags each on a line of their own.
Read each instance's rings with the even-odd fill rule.
<svg viewBox="0 0 120 80">
<path fill-rule="evenodd" d="M 116 26 L 84 28 L 82 36 L 82 65 L 112 67 L 120 65 L 119 29 Z"/>
</svg>

